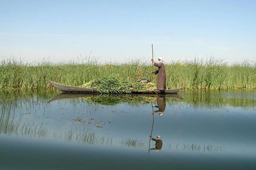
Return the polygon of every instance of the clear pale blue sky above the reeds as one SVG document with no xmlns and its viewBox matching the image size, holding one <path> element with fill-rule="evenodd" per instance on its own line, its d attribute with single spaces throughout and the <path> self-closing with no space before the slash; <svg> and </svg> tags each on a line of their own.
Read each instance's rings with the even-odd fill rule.
<svg viewBox="0 0 256 170">
<path fill-rule="evenodd" d="M 256 0 L 0 0 L 0 60 L 256 59 Z"/>
</svg>

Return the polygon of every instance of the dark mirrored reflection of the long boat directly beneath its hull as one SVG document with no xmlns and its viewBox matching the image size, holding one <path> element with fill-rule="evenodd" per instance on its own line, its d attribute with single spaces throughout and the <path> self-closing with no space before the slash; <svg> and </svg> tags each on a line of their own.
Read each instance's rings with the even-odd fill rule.
<svg viewBox="0 0 256 170">
<path fill-rule="evenodd" d="M 61 93 L 53 97 L 48 103 L 59 100 L 59 99 L 70 99 L 70 98 L 89 98 L 89 97 L 122 97 L 122 98 L 133 98 L 133 97 L 168 97 L 174 99 L 182 99 L 178 94 L 79 94 L 79 93 Z M 121 99 L 120 99 L 121 101 Z"/>
</svg>

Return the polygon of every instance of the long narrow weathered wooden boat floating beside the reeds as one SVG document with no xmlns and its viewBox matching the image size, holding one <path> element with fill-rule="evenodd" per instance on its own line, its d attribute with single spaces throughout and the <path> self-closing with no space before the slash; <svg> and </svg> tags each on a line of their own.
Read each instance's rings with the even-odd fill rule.
<svg viewBox="0 0 256 170">
<path fill-rule="evenodd" d="M 82 88 L 78 86 L 62 85 L 57 82 L 52 82 L 47 79 L 55 88 L 63 93 L 91 93 L 99 94 L 100 92 L 96 88 Z M 132 94 L 177 94 L 184 87 L 169 89 L 169 90 L 157 90 L 157 91 L 131 91 Z"/>
</svg>

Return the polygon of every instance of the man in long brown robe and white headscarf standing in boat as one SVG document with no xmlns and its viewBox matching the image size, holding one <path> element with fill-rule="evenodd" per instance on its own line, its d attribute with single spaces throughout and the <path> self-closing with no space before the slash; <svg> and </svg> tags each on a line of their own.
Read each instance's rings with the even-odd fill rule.
<svg viewBox="0 0 256 170">
<path fill-rule="evenodd" d="M 152 63 L 154 66 L 158 67 L 157 71 L 152 71 L 154 74 L 157 75 L 157 90 L 165 90 L 166 89 L 166 74 L 165 74 L 165 69 L 163 65 L 163 58 L 159 57 L 158 58 L 158 63 L 154 62 L 154 59 L 151 59 Z"/>
</svg>

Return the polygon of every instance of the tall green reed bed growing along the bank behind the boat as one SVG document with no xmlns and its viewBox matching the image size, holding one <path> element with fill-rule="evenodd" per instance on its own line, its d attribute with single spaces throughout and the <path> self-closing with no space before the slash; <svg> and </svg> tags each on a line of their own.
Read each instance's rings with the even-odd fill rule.
<svg viewBox="0 0 256 170">
<path fill-rule="evenodd" d="M 256 88 L 256 63 L 244 61 L 228 65 L 221 59 L 165 63 L 166 88 L 185 86 L 188 90 Z M 157 68 L 154 67 L 154 70 Z M 99 77 L 118 75 L 122 80 L 136 82 L 151 78 L 151 62 L 132 60 L 128 63 L 99 64 L 95 60 L 83 63 L 23 63 L 15 59 L 0 61 L 0 89 L 53 88 L 47 79 L 81 86 Z M 154 75 L 152 82 L 156 83 Z"/>
</svg>

